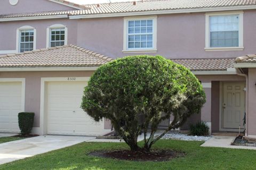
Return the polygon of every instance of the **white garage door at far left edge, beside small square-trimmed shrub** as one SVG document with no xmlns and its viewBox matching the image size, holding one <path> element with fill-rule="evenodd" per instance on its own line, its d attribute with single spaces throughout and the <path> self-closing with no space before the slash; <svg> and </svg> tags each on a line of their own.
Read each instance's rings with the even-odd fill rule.
<svg viewBox="0 0 256 170">
<path fill-rule="evenodd" d="M 0 132 L 20 132 L 21 82 L 0 82 Z"/>
</svg>

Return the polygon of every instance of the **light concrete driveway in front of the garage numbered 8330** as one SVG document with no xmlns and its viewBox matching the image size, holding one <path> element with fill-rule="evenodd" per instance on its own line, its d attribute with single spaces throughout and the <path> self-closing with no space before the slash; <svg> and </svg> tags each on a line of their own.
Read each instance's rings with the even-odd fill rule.
<svg viewBox="0 0 256 170">
<path fill-rule="evenodd" d="M 95 137 L 43 135 L 0 144 L 0 164 L 65 148 Z"/>
</svg>

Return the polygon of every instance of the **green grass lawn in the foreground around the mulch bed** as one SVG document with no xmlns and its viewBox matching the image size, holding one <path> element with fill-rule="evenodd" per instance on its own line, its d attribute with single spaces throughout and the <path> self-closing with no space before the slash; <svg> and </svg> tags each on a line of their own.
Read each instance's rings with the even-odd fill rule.
<svg viewBox="0 0 256 170">
<path fill-rule="evenodd" d="M 256 151 L 199 147 L 203 142 L 160 140 L 154 148 L 186 152 L 169 162 L 129 162 L 87 156 L 92 150 L 128 149 L 125 143 L 84 142 L 68 148 L 0 165 L 0 169 L 256 169 Z"/>
</svg>

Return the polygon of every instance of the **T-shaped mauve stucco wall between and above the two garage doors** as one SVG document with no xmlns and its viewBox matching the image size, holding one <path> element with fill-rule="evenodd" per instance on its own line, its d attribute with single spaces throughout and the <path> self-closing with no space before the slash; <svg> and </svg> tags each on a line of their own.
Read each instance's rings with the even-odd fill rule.
<svg viewBox="0 0 256 170">
<path fill-rule="evenodd" d="M 25 78 L 25 112 L 35 112 L 34 126 L 40 121 L 41 78 L 49 77 L 90 77 L 92 71 L 56 72 L 0 72 L 0 78 Z"/>
</svg>

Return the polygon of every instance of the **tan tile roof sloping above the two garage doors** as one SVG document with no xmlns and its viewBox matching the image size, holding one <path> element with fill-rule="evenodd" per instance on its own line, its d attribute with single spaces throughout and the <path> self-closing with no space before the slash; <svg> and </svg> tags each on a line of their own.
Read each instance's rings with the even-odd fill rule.
<svg viewBox="0 0 256 170">
<path fill-rule="evenodd" d="M 0 56 L 0 67 L 93 67 L 111 60 L 82 47 L 66 45 Z"/>
</svg>

